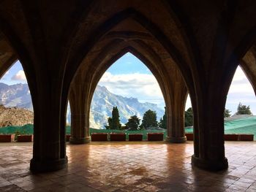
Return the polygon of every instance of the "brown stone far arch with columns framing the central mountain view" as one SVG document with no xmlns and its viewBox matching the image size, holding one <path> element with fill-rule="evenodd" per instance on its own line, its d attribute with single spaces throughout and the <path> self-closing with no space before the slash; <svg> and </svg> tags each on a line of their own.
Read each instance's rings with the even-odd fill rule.
<svg viewBox="0 0 256 192">
<path fill-rule="evenodd" d="M 110 45 L 112 44 L 113 42 L 110 43 Z M 145 46 L 141 47 L 141 43 L 138 44 L 138 42 L 127 43 L 121 41 L 115 49 L 113 49 L 112 45 L 111 47 L 107 46 L 108 49 L 106 47 L 101 52 L 96 52 L 95 59 L 92 59 L 94 58 L 92 57 L 93 55 L 84 59 L 83 65 L 72 80 L 69 90 L 69 101 L 73 106 L 72 114 L 74 115 L 72 116 L 73 126 L 71 126 L 71 130 L 74 131 L 73 128 L 75 128 L 76 131 L 74 133 L 78 134 L 71 136 L 70 142 L 89 142 L 89 108 L 97 82 L 114 61 L 128 52 L 143 61 L 159 82 L 166 103 L 167 141 L 186 142 L 184 135 L 184 109 L 187 86 L 172 60 L 159 58 L 155 50 Z M 82 109 L 78 106 L 84 106 L 84 108 Z"/>
</svg>

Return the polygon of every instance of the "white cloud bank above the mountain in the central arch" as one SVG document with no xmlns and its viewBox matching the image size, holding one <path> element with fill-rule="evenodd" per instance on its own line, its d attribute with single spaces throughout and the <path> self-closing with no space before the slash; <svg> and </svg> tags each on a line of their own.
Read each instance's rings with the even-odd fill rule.
<svg viewBox="0 0 256 192">
<path fill-rule="evenodd" d="M 105 72 L 99 81 L 112 93 L 121 96 L 135 97 L 139 101 L 165 105 L 162 91 L 153 74 L 111 74 Z"/>
</svg>

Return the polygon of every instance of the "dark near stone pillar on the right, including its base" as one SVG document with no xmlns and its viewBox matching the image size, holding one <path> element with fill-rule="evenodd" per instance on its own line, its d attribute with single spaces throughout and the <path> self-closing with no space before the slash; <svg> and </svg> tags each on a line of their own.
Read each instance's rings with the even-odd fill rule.
<svg viewBox="0 0 256 192">
<path fill-rule="evenodd" d="M 197 102 L 197 105 L 193 105 L 193 110 L 196 106 L 197 109 L 194 110 L 195 153 L 192 155 L 192 165 L 213 171 L 227 169 L 223 117 L 225 97 L 221 92 L 210 92 L 197 97 Z"/>
</svg>

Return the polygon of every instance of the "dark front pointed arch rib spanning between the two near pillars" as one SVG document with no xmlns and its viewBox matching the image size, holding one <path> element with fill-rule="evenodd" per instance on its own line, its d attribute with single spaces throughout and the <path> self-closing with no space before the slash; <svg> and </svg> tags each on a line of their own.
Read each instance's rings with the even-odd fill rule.
<svg viewBox="0 0 256 192">
<path fill-rule="evenodd" d="M 126 20 L 127 18 L 132 18 L 132 20 L 135 20 L 135 22 L 140 23 L 141 26 L 146 28 L 146 31 L 149 31 L 150 34 L 153 35 L 153 37 L 160 42 L 163 47 L 165 47 L 165 50 L 167 50 L 168 53 L 172 55 L 172 58 L 176 61 L 176 63 L 178 63 L 178 68 L 181 70 L 181 74 L 184 74 L 183 76 L 185 81 L 189 82 L 189 85 L 193 85 L 193 83 L 191 83 L 192 74 L 190 74 L 189 66 L 187 66 L 186 61 L 184 61 L 178 49 L 167 37 L 165 37 L 165 34 L 162 33 L 161 29 L 159 29 L 154 23 L 151 23 L 151 21 L 140 12 L 132 8 L 125 9 L 124 11 L 113 15 L 112 18 L 106 20 L 105 23 L 94 31 L 94 38 L 92 38 L 92 40 L 90 39 L 89 42 L 84 42 L 79 47 L 78 55 L 75 55 L 74 58 L 69 58 L 69 61 L 72 62 L 73 67 L 73 69 L 69 69 L 67 64 L 67 71 L 69 71 L 69 74 L 75 74 L 75 71 L 78 70 L 79 64 L 83 58 L 85 58 L 86 54 L 88 54 L 89 50 L 94 47 L 98 39 L 102 39 L 102 37 L 104 37 L 108 31 L 110 31 L 114 26 L 117 26 L 119 23 L 122 23 L 122 21 Z M 71 82 L 72 77 L 69 76 L 66 79 Z M 64 85 L 69 85 L 69 83 L 64 83 Z"/>
</svg>

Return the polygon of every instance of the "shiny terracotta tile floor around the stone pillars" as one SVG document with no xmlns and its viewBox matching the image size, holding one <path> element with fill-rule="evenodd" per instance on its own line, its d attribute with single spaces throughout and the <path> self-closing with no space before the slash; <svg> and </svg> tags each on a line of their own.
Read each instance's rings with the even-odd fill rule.
<svg viewBox="0 0 256 192">
<path fill-rule="evenodd" d="M 0 191 L 256 191 L 256 142 L 226 142 L 229 168 L 192 168 L 192 142 L 67 145 L 67 169 L 31 174 L 31 144 L 0 145 Z"/>
</svg>

